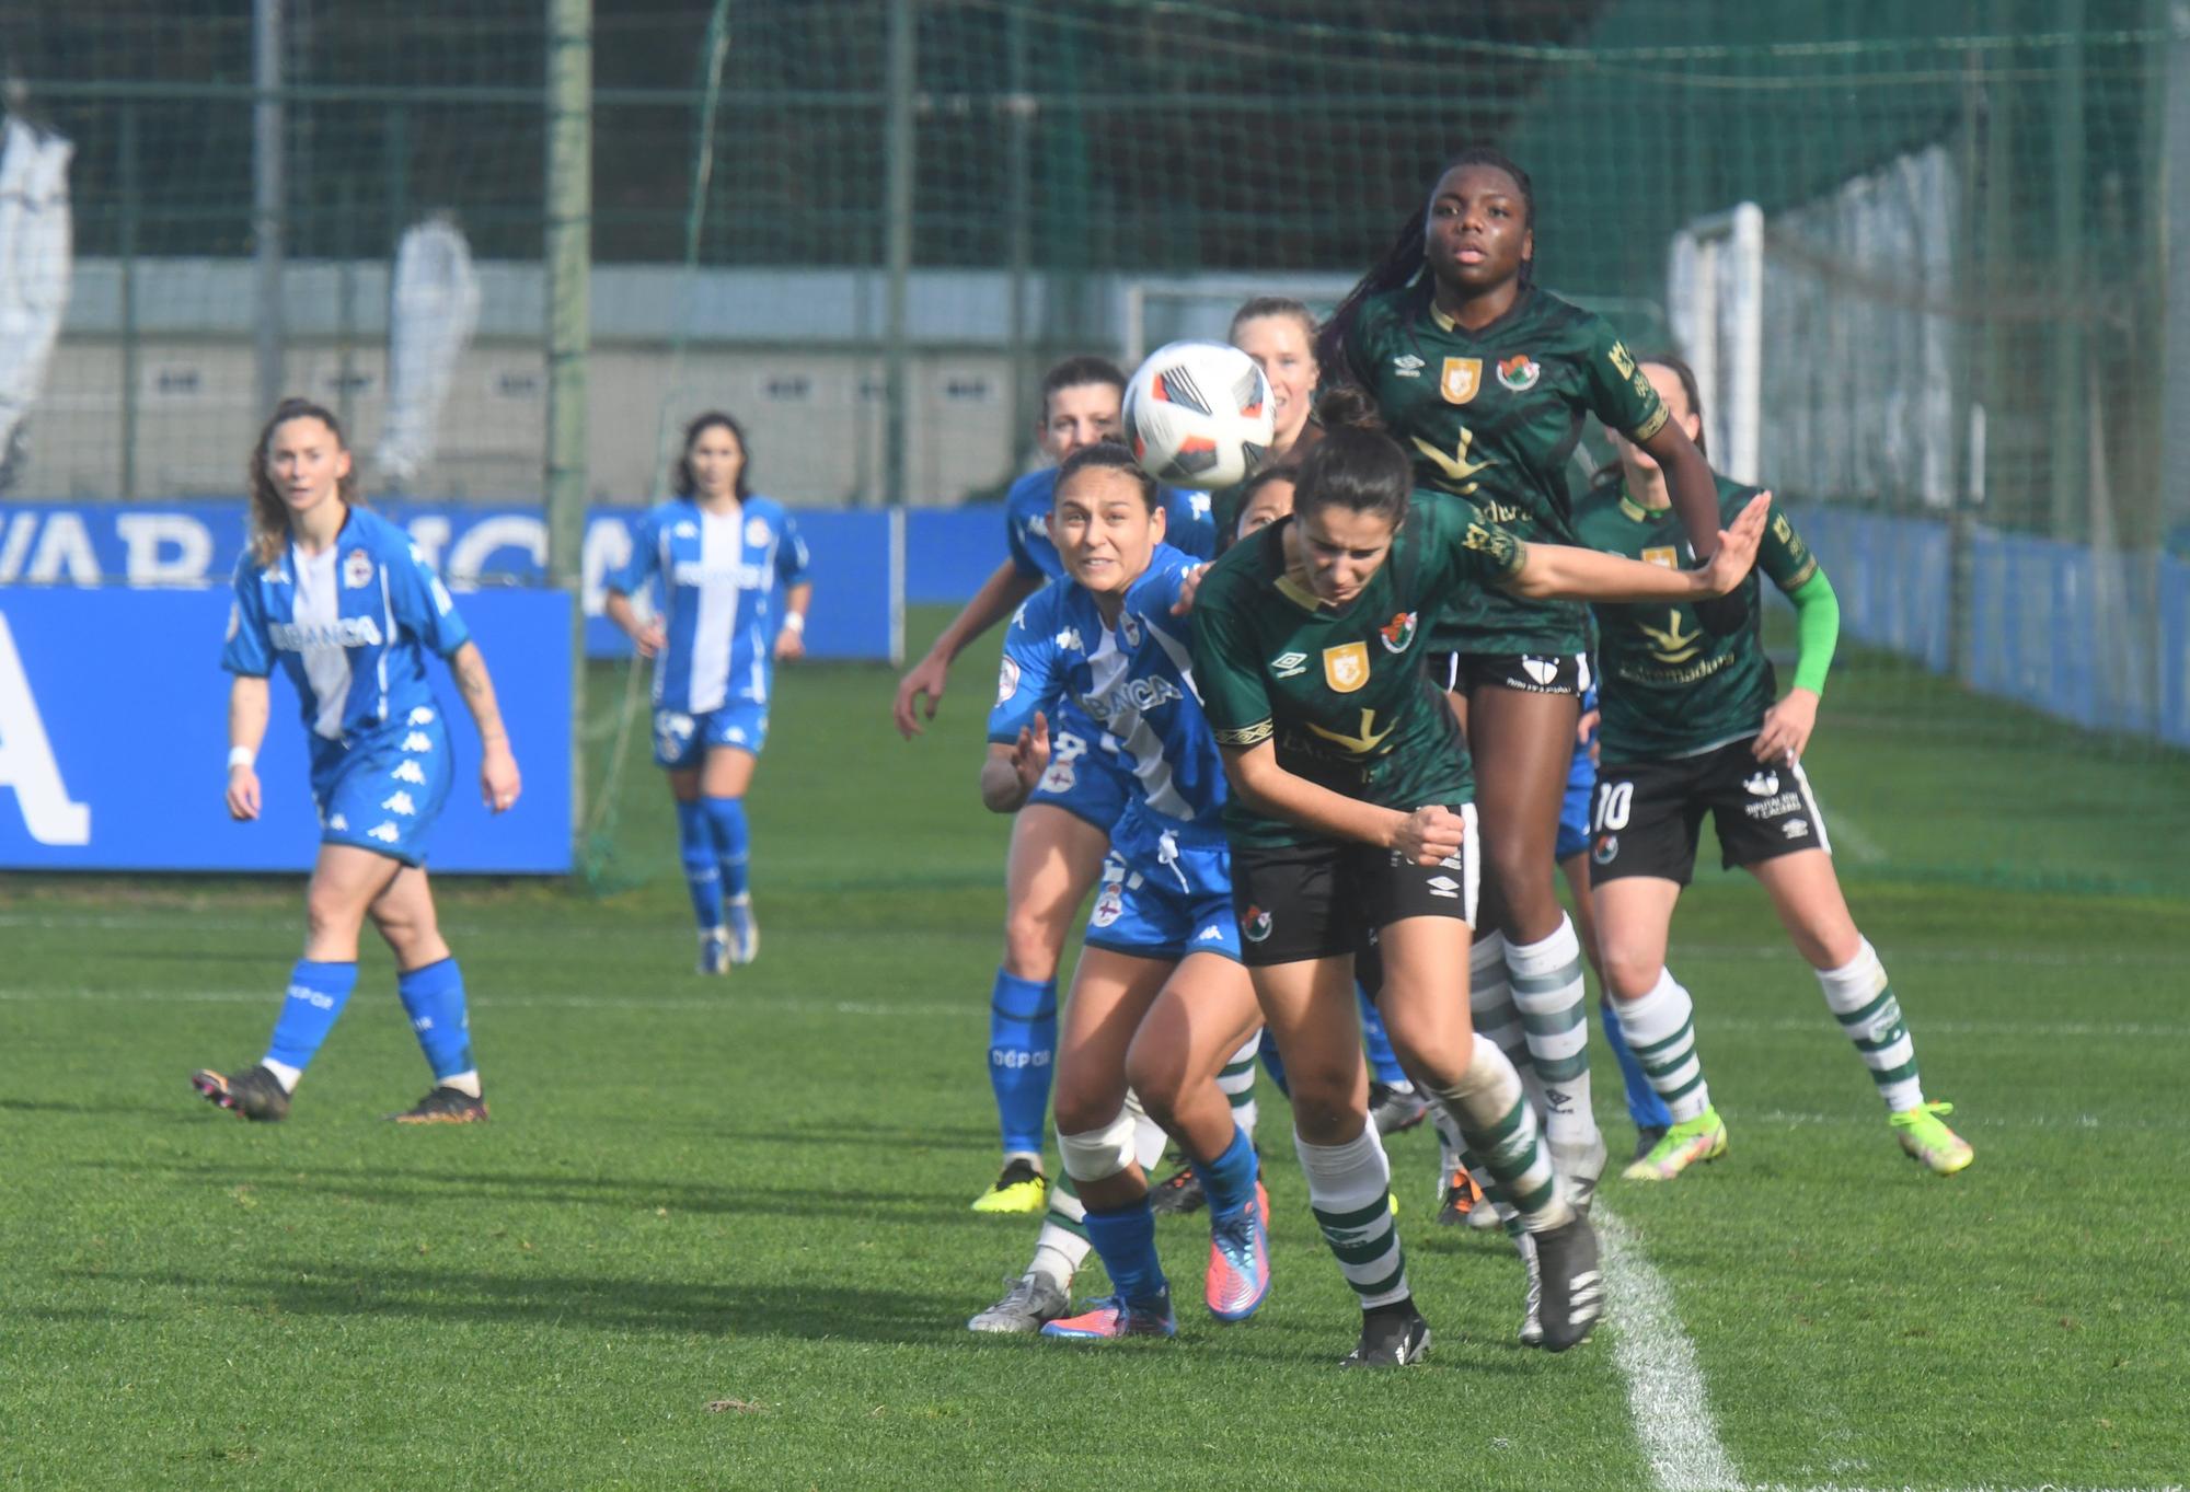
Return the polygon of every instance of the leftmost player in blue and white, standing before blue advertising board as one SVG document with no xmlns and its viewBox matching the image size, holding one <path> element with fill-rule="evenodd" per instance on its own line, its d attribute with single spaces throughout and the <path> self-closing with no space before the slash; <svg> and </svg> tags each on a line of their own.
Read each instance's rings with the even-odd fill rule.
<svg viewBox="0 0 2190 1492">
<path fill-rule="evenodd" d="M 252 451 L 252 545 L 237 562 L 221 667 L 228 691 L 228 812 L 256 818 L 267 676 L 278 665 L 304 704 L 320 858 L 307 893 L 304 958 L 267 1054 L 237 1076 L 199 1070 L 191 1083 L 254 1120 L 289 1114 L 289 1094 L 357 987 L 366 917 L 396 956 L 396 993 L 434 1087 L 399 1122 L 486 1118 L 471 1059 L 464 976 L 440 936 L 427 884 L 427 838 L 449 796 L 449 728 L 425 658 L 447 658 L 480 728 L 480 792 L 497 814 L 517 803 L 519 774 L 486 661 L 449 591 L 410 536 L 355 508 L 342 424 L 307 400 L 285 400 Z"/>
</svg>

